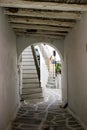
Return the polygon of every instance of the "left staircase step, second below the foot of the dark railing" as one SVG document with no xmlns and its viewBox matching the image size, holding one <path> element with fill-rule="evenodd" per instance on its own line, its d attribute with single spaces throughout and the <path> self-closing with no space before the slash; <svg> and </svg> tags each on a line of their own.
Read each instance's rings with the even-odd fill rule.
<svg viewBox="0 0 87 130">
<path fill-rule="evenodd" d="M 39 99 L 42 97 L 42 93 L 35 93 L 35 94 L 22 94 L 22 99 Z"/>
</svg>

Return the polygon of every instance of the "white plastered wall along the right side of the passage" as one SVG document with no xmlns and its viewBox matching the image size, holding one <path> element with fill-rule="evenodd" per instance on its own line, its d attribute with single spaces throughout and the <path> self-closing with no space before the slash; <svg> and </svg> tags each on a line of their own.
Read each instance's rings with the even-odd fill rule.
<svg viewBox="0 0 87 130">
<path fill-rule="evenodd" d="M 64 41 L 64 74 L 69 108 L 87 125 L 87 13 Z"/>
</svg>

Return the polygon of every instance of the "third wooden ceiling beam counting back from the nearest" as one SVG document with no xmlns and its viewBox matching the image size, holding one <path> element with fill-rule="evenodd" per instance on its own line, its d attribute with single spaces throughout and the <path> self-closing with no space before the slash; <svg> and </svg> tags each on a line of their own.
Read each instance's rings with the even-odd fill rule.
<svg viewBox="0 0 87 130">
<path fill-rule="evenodd" d="M 53 26 L 65 26 L 73 27 L 75 22 L 63 22 L 57 20 L 46 20 L 46 19 L 31 19 L 22 17 L 9 17 L 11 23 L 23 23 L 23 24 L 39 24 L 39 25 L 53 25 Z"/>
</svg>

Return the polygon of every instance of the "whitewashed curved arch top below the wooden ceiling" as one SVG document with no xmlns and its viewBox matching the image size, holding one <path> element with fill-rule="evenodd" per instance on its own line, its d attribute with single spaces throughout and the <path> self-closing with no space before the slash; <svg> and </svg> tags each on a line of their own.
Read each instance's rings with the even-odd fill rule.
<svg viewBox="0 0 87 130">
<path fill-rule="evenodd" d="M 45 43 L 52 46 L 55 50 L 57 50 L 61 60 L 63 61 L 63 41 L 59 39 L 51 39 L 51 38 L 43 38 L 43 37 L 32 37 L 32 36 L 18 36 L 17 37 L 17 55 L 18 59 L 22 51 L 31 46 L 32 44 L 41 44 Z"/>
</svg>

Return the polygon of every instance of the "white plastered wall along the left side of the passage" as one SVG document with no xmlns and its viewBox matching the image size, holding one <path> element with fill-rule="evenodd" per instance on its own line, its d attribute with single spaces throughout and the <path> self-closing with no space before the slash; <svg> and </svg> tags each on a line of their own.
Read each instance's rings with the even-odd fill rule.
<svg viewBox="0 0 87 130">
<path fill-rule="evenodd" d="M 8 130 L 18 104 L 16 37 L 0 8 L 0 130 Z"/>
</svg>

